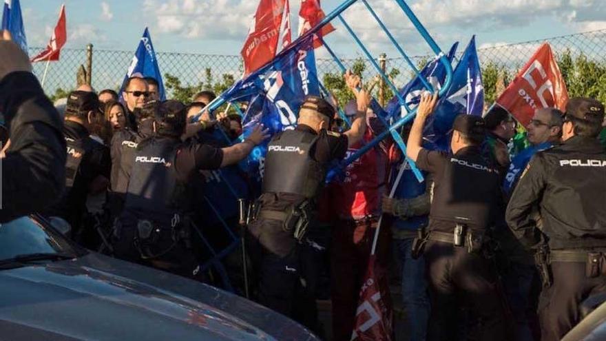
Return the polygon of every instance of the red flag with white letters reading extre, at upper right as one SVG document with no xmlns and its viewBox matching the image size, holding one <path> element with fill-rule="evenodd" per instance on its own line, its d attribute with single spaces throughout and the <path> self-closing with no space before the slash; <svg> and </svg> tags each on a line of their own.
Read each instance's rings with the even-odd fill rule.
<svg viewBox="0 0 606 341">
<path fill-rule="evenodd" d="M 541 45 L 530 61 L 497 99 L 524 127 L 534 111 L 543 107 L 565 110 L 568 102 L 566 84 L 548 43 Z"/>
</svg>

